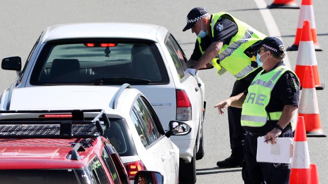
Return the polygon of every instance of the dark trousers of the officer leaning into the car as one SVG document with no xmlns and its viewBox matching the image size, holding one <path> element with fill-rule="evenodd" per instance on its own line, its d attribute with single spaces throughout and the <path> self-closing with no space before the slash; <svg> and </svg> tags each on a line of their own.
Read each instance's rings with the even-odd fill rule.
<svg viewBox="0 0 328 184">
<path fill-rule="evenodd" d="M 252 73 L 248 74 L 246 77 L 240 80 L 236 80 L 230 97 L 236 96 L 247 90 L 248 86 L 253 81 L 256 74 L 261 70 L 262 68 L 259 67 L 258 69 L 254 70 Z M 243 141 L 246 135 L 240 123 L 241 110 L 242 109 L 240 108 L 234 108 L 234 107 L 228 108 L 231 156 L 238 157 L 238 159 L 244 158 Z"/>
</svg>

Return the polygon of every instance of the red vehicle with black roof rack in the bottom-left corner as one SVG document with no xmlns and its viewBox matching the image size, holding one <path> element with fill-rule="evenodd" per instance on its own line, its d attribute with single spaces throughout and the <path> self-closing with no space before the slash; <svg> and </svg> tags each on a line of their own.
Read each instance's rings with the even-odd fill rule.
<svg viewBox="0 0 328 184">
<path fill-rule="evenodd" d="M 91 112 L 98 115 L 85 121 L 83 114 Z M 0 183 L 130 183 L 118 153 L 100 136 L 110 126 L 103 110 L 0 113 Z M 16 113 L 44 118 L 14 118 Z M 135 183 L 140 177 L 162 175 L 142 171 Z"/>
</svg>

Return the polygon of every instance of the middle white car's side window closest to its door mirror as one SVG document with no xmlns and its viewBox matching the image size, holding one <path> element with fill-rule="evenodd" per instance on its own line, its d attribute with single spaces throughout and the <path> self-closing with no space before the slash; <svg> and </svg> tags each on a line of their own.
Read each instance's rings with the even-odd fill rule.
<svg viewBox="0 0 328 184">
<path fill-rule="evenodd" d="M 148 108 L 138 98 L 134 108 L 138 114 L 141 123 L 143 123 L 144 133 L 149 135 L 149 144 L 156 141 L 159 138 L 158 130 L 155 126 L 154 120 L 150 116 Z"/>
</svg>

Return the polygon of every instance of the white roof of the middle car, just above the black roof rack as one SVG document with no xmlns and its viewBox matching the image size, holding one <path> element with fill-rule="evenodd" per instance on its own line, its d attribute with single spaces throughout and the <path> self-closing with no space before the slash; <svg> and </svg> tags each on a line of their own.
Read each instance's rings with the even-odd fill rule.
<svg viewBox="0 0 328 184">
<path fill-rule="evenodd" d="M 120 114 L 110 107 L 119 87 L 96 85 L 54 85 L 14 88 L 10 110 L 104 109 L 106 114 Z M 136 96 L 140 91 L 134 91 Z M 119 102 L 127 93 L 122 93 Z M 123 97 L 123 98 L 122 98 Z M 120 103 L 119 103 L 120 104 Z M 119 118 L 119 117 L 118 117 Z"/>
</svg>

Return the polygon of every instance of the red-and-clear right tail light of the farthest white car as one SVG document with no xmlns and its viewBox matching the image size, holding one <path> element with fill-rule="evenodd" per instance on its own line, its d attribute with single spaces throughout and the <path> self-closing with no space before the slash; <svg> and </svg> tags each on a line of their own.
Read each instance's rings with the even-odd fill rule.
<svg viewBox="0 0 328 184">
<path fill-rule="evenodd" d="M 191 103 L 185 90 L 177 89 L 177 120 L 191 120 Z"/>
</svg>

